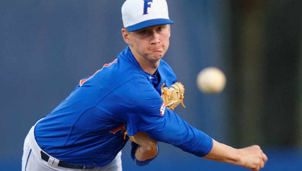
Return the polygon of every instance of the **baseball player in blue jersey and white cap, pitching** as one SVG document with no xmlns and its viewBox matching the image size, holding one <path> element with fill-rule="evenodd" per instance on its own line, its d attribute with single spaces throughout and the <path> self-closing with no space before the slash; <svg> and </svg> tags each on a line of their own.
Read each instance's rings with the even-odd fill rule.
<svg viewBox="0 0 302 171">
<path fill-rule="evenodd" d="M 173 111 L 184 88 L 162 60 L 173 23 L 166 1 L 126 0 L 122 16 L 122 35 L 129 46 L 81 79 L 59 106 L 34 124 L 24 141 L 22 171 L 120 171 L 128 135 L 131 157 L 139 166 L 157 156 L 157 142 L 162 141 L 198 157 L 262 168 L 267 157 L 259 146 L 234 149 L 218 143 Z"/>
</svg>

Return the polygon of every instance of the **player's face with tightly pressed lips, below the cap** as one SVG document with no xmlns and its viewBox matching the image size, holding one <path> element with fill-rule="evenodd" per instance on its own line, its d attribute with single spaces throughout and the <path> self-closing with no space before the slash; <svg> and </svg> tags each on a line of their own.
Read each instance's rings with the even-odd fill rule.
<svg viewBox="0 0 302 171">
<path fill-rule="evenodd" d="M 128 32 L 126 43 L 133 55 L 149 62 L 159 61 L 168 50 L 170 25 L 157 25 Z"/>
</svg>

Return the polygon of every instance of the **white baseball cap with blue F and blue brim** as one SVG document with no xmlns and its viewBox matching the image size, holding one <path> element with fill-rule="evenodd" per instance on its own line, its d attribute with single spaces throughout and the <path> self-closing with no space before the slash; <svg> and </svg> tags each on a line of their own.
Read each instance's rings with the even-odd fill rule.
<svg viewBox="0 0 302 171">
<path fill-rule="evenodd" d="M 173 24 L 165 0 L 126 0 L 122 6 L 124 27 L 136 31 L 149 26 Z"/>
</svg>

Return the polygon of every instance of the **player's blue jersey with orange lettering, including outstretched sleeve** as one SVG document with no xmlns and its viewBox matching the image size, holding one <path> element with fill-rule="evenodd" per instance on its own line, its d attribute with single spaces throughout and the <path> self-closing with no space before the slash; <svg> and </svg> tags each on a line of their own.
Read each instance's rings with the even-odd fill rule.
<svg viewBox="0 0 302 171">
<path fill-rule="evenodd" d="M 155 74 L 143 71 L 130 48 L 105 64 L 35 127 L 35 138 L 45 152 L 59 160 L 101 167 L 124 147 L 128 135 L 146 132 L 196 156 L 206 155 L 212 139 L 191 127 L 161 99 L 161 85 L 176 76 L 161 60 Z"/>
</svg>

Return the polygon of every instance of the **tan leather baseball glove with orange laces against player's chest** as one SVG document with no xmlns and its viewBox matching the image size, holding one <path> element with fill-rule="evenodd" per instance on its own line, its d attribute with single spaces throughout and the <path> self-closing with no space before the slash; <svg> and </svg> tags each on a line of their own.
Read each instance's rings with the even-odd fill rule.
<svg viewBox="0 0 302 171">
<path fill-rule="evenodd" d="M 183 99 L 185 88 L 181 82 L 175 82 L 174 84 L 164 87 L 165 83 L 162 84 L 162 100 L 168 109 L 174 110 L 176 106 L 182 103 L 182 107 L 185 107 Z"/>
</svg>

